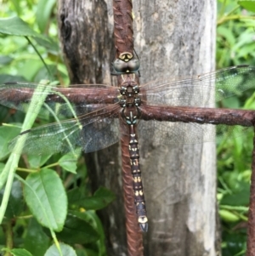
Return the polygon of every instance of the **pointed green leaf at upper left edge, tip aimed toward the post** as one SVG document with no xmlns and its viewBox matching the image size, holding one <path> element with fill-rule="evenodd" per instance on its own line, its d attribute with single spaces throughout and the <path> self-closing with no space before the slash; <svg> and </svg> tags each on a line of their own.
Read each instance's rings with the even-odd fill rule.
<svg viewBox="0 0 255 256">
<path fill-rule="evenodd" d="M 33 31 L 28 24 L 19 17 L 0 19 L 0 33 L 11 36 L 46 38 Z"/>
</svg>

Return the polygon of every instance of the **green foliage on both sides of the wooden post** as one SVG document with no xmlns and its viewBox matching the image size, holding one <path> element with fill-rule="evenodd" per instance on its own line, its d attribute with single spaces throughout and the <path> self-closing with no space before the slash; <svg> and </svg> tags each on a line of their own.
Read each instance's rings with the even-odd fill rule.
<svg viewBox="0 0 255 256">
<path fill-rule="evenodd" d="M 67 71 L 59 50 L 55 4 L 55 0 L 3 1 L 0 17 L 19 16 L 26 24 L 20 20 L 10 20 L 7 26 L 3 23 L 3 19 L 0 20 L 0 32 L 3 33 L 0 34 L 1 83 L 8 81 L 40 82 L 48 78 L 51 81 L 68 84 Z M 217 68 L 241 64 L 255 65 L 254 11 L 253 1 L 218 0 Z M 12 30 L 12 24 L 18 24 L 20 29 Z M 43 37 L 40 36 L 42 34 Z M 253 92 L 248 91 L 240 97 L 226 100 L 224 106 L 254 109 L 253 98 Z M 24 115 L 0 106 L 0 120 L 2 123 L 15 124 L 14 127 L 2 126 L 0 129 L 0 160 L 2 161 L 0 170 L 3 170 L 9 154 L 6 145 L 10 138 L 19 134 L 17 126 L 23 122 Z M 47 122 L 48 120 L 37 119 L 36 125 Z M 10 134 L 8 138 L 7 132 Z M 251 152 L 252 134 L 244 134 L 244 136 L 224 141 L 218 145 L 218 202 L 224 256 L 244 255 L 246 251 Z M 91 196 L 84 162 L 82 159 L 72 159 L 73 161 L 66 162 L 66 157 L 49 155 L 37 161 L 35 157 L 23 156 L 20 159 L 18 170 L 22 177 L 24 195 L 20 181 L 15 179 L 7 209 L 8 218 L 3 222 L 3 230 L 0 230 L 2 248 L 10 249 L 14 242 L 16 247 L 12 250 L 14 255 L 20 255 L 18 248 L 26 249 L 22 251 L 24 253 L 22 255 L 40 256 L 45 253 L 45 255 L 54 255 L 59 248 L 63 255 L 75 255 L 75 253 L 77 255 L 105 255 L 104 233 L 94 211 L 105 207 L 114 196 L 103 188 Z M 40 175 L 35 170 L 41 170 Z M 59 175 L 54 175 L 55 172 Z M 75 172 L 77 174 L 74 174 Z M 61 177 L 61 183 L 59 183 L 59 177 Z M 40 212 L 39 207 L 27 207 L 30 199 L 33 198 L 31 191 L 35 192 L 32 188 L 33 182 L 36 180 L 37 185 L 40 186 L 44 179 L 52 179 L 54 184 L 59 183 L 59 185 L 50 186 L 48 192 L 52 192 L 52 195 L 48 193 L 48 199 L 54 200 L 61 190 L 63 190 L 60 193 L 62 196 L 67 195 L 62 198 L 58 208 L 54 208 L 57 202 L 48 206 L 53 214 L 59 216 L 65 211 L 68 202 L 66 219 L 60 218 L 55 227 L 53 223 L 43 222 L 45 214 Z M 44 203 L 39 200 L 33 204 L 37 205 L 38 202 Z M 38 218 L 40 214 L 42 214 L 41 219 Z M 47 213 L 46 216 L 48 216 Z M 48 227 L 49 231 L 42 226 Z M 64 229 L 58 233 L 57 231 L 63 227 Z M 75 248 L 76 252 L 64 243 L 56 242 L 51 246 L 54 236 Z M 6 237 L 10 240 L 8 243 L 5 241 Z M 87 237 L 85 242 L 84 237 Z"/>
</svg>

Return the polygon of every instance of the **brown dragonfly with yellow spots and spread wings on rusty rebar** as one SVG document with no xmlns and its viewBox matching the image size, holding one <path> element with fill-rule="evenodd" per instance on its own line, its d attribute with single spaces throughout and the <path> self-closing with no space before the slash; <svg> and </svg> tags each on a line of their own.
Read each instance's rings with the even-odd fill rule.
<svg viewBox="0 0 255 256">
<path fill-rule="evenodd" d="M 214 108 L 215 102 L 254 88 L 255 67 L 237 65 L 196 77 L 166 78 L 144 85 L 139 85 L 136 80 L 139 60 L 133 54 L 120 54 L 113 61 L 112 69 L 122 77 L 120 88 L 106 84 L 71 85 L 68 88 L 29 82 L 1 84 L 1 105 L 25 112 L 30 105 L 31 111 L 31 97 L 40 100 L 45 96 L 41 112 L 67 118 L 22 132 L 10 142 L 9 149 L 14 150 L 18 139 L 24 139 L 20 151 L 31 155 L 65 153 L 80 148 L 85 153 L 99 151 L 119 141 L 120 122 L 124 122 L 129 130 L 137 219 L 141 230 L 147 231 L 138 134 L 155 137 L 158 143 L 167 145 L 215 141 L 217 134 L 221 139 L 240 135 L 246 127 L 253 125 L 251 119 L 242 117 L 245 127 L 218 125 L 215 128 L 218 122 L 208 118 L 207 113 L 212 111 L 217 117 L 220 110 Z M 45 86 L 47 90 L 43 89 Z M 164 114 L 166 110 L 167 114 Z M 234 117 L 227 114 L 224 119 L 231 124 L 230 119 Z M 175 123 L 172 125 L 168 121 Z M 162 133 L 167 134 L 167 139 L 161 139 Z"/>
</svg>

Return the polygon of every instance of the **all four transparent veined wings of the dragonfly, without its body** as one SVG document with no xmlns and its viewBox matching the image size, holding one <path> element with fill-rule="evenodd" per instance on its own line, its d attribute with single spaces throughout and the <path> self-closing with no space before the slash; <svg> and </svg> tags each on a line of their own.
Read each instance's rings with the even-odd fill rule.
<svg viewBox="0 0 255 256">
<path fill-rule="evenodd" d="M 255 68 L 252 66 L 241 65 L 178 81 L 168 79 L 150 82 L 141 87 L 141 95 L 148 104 L 213 106 L 215 100 L 223 100 L 234 94 L 240 94 L 248 88 L 254 88 L 252 82 L 254 71 Z M 31 83 L 4 84 L 0 88 L 0 102 L 3 105 L 26 111 L 26 105 L 30 103 L 31 99 L 29 96 L 37 86 L 42 85 Z M 46 103 L 52 109 L 55 109 L 55 104 L 59 104 L 57 105 L 59 112 L 68 117 L 69 115 L 73 116 L 72 112 L 69 111 L 68 101 L 70 100 L 76 102 L 75 111 L 78 114 L 91 111 L 94 109 L 94 104 L 106 105 L 112 103 L 111 100 L 113 102 L 118 101 L 117 95 L 119 93 L 116 88 L 105 85 L 92 85 L 92 87 L 88 89 L 84 87 L 82 90 L 81 87 L 51 87 Z M 84 94 L 85 91 L 86 94 Z M 63 100 L 63 95 L 67 98 L 67 103 Z M 40 96 L 42 94 L 38 94 L 38 97 Z M 113 118 L 119 109 L 119 105 L 116 105 L 115 111 L 111 109 L 111 106 L 108 106 L 102 109 L 100 113 L 91 112 L 88 115 L 83 115 L 79 118 L 79 122 L 72 119 L 32 129 L 27 134 L 22 135 L 23 138 L 27 137 L 23 151 L 32 154 L 65 152 L 71 150 L 71 145 L 74 148 L 82 147 L 85 152 L 102 149 L 115 143 L 119 137 L 116 123 L 118 121 Z M 107 115 L 105 115 L 106 113 Z M 201 143 L 215 140 L 215 134 L 220 134 L 221 138 L 224 138 L 225 136 L 236 136 L 244 133 L 244 130 L 246 128 L 224 125 L 215 129 L 213 125 L 209 124 L 139 122 L 140 133 L 146 134 L 147 138 L 156 136 L 156 141 L 163 144 Z M 161 134 L 167 134 L 167 139 Z"/>
</svg>

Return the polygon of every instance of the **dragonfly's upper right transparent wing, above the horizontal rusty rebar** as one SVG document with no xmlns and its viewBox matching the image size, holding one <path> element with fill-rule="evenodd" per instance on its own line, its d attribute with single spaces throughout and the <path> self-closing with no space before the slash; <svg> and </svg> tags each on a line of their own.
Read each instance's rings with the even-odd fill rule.
<svg viewBox="0 0 255 256">
<path fill-rule="evenodd" d="M 233 66 L 197 77 L 162 79 L 141 87 L 147 104 L 213 106 L 215 102 L 255 88 L 255 67 Z"/>
</svg>

